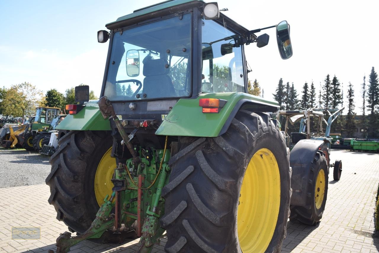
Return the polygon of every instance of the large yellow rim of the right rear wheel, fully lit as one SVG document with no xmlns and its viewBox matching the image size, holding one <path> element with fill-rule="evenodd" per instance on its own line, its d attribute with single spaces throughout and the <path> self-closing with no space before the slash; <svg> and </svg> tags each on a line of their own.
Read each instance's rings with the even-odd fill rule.
<svg viewBox="0 0 379 253">
<path fill-rule="evenodd" d="M 240 191 L 237 231 L 243 253 L 267 249 L 273 238 L 279 207 L 279 166 L 274 154 L 261 148 L 247 165 Z"/>
</svg>

